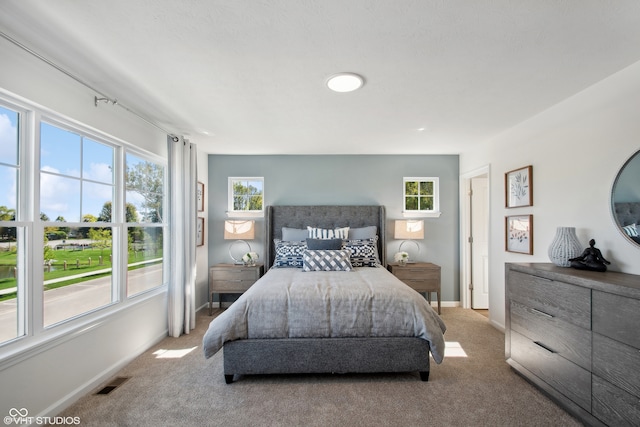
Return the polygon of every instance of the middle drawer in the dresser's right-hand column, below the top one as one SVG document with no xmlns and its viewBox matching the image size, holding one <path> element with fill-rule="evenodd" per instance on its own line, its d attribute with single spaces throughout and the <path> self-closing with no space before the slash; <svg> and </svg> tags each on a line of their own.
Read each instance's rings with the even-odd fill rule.
<svg viewBox="0 0 640 427">
<path fill-rule="evenodd" d="M 640 398 L 640 351 L 637 348 L 594 333 L 592 372 Z"/>
</svg>

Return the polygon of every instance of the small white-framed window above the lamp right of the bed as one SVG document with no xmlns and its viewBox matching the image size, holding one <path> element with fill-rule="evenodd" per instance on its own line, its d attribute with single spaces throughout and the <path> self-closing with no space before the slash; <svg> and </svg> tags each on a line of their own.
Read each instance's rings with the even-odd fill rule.
<svg viewBox="0 0 640 427">
<path fill-rule="evenodd" d="M 438 178 L 405 177 L 403 184 L 405 216 L 440 215 Z"/>
</svg>

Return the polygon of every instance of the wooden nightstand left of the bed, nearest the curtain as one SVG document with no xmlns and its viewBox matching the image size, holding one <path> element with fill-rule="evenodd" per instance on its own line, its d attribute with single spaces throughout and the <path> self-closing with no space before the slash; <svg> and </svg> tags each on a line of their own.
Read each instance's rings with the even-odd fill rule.
<svg viewBox="0 0 640 427">
<path fill-rule="evenodd" d="M 241 294 L 262 276 L 262 264 L 216 264 L 209 267 L 209 316 L 213 314 L 213 294 Z M 222 301 L 220 302 L 222 307 Z"/>
</svg>

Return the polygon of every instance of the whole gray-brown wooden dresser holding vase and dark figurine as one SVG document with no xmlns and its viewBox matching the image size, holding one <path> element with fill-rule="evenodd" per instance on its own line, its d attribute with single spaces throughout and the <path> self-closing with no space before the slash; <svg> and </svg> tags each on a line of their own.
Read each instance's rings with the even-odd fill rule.
<svg viewBox="0 0 640 427">
<path fill-rule="evenodd" d="M 640 276 L 505 270 L 507 363 L 587 425 L 640 425 Z"/>
</svg>

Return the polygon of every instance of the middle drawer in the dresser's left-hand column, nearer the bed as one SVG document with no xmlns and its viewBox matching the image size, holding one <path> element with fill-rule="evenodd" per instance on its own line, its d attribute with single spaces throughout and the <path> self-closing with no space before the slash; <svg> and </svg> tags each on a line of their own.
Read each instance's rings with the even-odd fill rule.
<svg viewBox="0 0 640 427">
<path fill-rule="evenodd" d="M 591 370 L 591 331 L 511 301 L 511 329 Z"/>
</svg>

